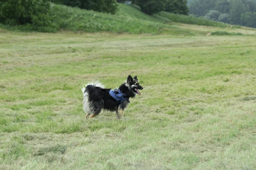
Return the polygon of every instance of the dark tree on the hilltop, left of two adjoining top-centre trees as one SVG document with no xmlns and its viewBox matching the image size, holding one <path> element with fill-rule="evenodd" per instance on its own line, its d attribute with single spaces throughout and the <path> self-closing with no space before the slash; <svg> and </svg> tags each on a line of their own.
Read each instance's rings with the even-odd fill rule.
<svg viewBox="0 0 256 170">
<path fill-rule="evenodd" d="M 132 2 L 141 7 L 146 14 L 152 15 L 164 11 L 166 0 L 132 0 Z"/>
</svg>

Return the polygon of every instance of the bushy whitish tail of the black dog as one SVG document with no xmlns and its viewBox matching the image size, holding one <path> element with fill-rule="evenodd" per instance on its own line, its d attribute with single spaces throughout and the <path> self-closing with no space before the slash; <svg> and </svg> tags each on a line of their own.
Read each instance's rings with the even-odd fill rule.
<svg viewBox="0 0 256 170">
<path fill-rule="evenodd" d="M 91 82 L 91 83 L 88 83 L 86 84 L 86 86 L 88 85 L 93 85 L 94 87 L 101 87 L 101 88 L 105 88 L 105 86 L 99 82 L 99 81 L 94 81 L 94 82 Z M 91 103 L 89 101 L 89 94 L 88 92 L 85 92 L 85 88 L 86 86 L 82 88 L 82 93 L 83 93 L 83 110 L 85 111 L 85 113 L 88 113 L 91 111 Z"/>
</svg>

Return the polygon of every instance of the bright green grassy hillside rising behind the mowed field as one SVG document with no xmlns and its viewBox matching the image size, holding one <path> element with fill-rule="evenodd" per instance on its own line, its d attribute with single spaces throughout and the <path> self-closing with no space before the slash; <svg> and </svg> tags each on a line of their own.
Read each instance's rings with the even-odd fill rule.
<svg viewBox="0 0 256 170">
<path fill-rule="evenodd" d="M 119 4 L 119 10 L 115 15 L 55 4 L 53 4 L 53 8 L 54 12 L 51 15 L 54 16 L 55 24 L 58 25 L 59 30 L 75 32 L 107 31 L 132 34 L 206 35 L 207 32 L 191 30 L 189 27 L 180 29 L 177 25 L 179 23 L 185 23 L 214 26 L 214 31 L 230 28 L 229 24 L 168 12 L 160 12 L 159 14 L 150 16 L 143 13 L 135 5 Z M 0 24 L 0 27 L 10 30 L 29 31 L 29 28 L 26 26 L 7 27 Z"/>
</svg>

